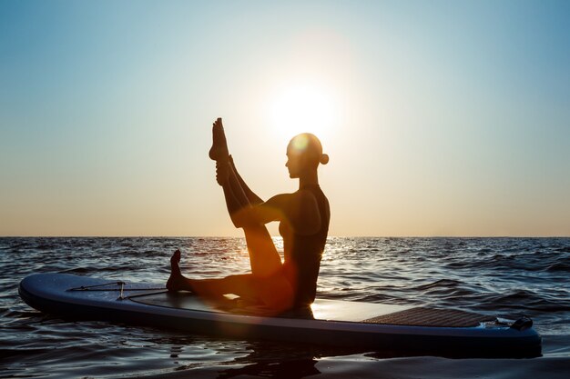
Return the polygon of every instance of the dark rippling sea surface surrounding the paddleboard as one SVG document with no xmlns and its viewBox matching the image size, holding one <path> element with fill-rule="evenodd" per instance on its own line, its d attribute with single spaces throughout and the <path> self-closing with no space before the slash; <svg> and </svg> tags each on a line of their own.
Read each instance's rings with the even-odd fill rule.
<svg viewBox="0 0 570 379">
<path fill-rule="evenodd" d="M 275 243 L 282 248 L 280 238 Z M 532 359 L 392 356 L 99 321 L 26 305 L 28 274 L 164 284 L 170 254 L 194 277 L 249 270 L 240 238 L 0 238 L 0 377 L 569 378 L 570 238 L 329 238 L 318 296 L 514 318 L 543 336 Z"/>
</svg>

